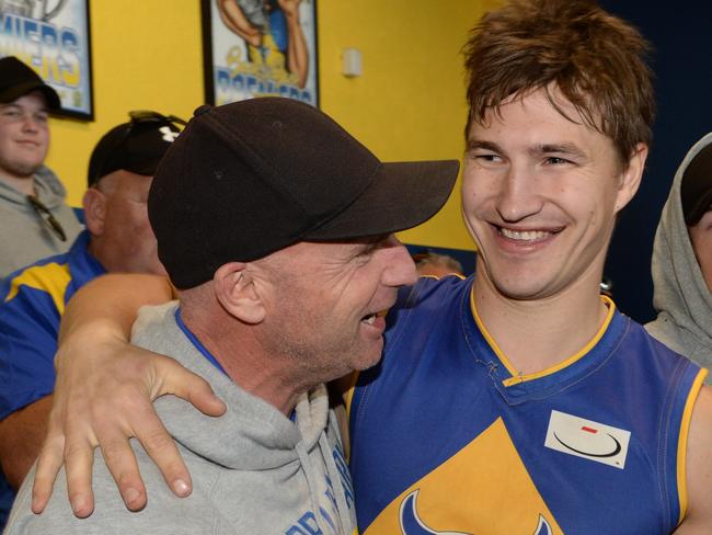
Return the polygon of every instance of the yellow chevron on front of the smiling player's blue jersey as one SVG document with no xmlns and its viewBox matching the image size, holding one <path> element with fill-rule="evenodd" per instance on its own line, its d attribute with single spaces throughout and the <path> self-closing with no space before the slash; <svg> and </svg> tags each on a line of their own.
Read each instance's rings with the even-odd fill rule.
<svg viewBox="0 0 712 535">
<path fill-rule="evenodd" d="M 502 478 L 516 492 L 502 492 L 498 485 Z M 476 501 L 472 488 L 483 489 Z M 502 514 L 502 503 L 508 504 L 507 514 Z M 563 533 L 529 477 L 501 418 L 436 470 L 405 489 L 364 535 L 411 533 L 403 526 L 409 517 L 417 519 L 432 530 L 429 533 Z M 540 519 L 549 531 L 541 527 Z"/>
</svg>

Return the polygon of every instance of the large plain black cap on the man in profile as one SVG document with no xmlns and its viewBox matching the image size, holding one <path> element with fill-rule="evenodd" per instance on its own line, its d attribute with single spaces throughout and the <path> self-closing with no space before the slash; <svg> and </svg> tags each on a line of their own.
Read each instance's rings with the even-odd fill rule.
<svg viewBox="0 0 712 535">
<path fill-rule="evenodd" d="M 395 232 L 445 204 L 457 160 L 383 163 L 331 117 L 284 98 L 202 106 L 151 184 L 158 253 L 180 289 L 299 241 Z"/>
</svg>

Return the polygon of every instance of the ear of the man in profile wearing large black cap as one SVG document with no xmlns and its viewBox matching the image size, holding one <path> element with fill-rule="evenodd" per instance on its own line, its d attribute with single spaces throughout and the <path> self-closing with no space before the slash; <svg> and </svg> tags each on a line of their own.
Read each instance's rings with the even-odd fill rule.
<svg viewBox="0 0 712 535">
<path fill-rule="evenodd" d="M 248 264 L 230 262 L 215 272 L 215 293 L 222 308 L 249 325 L 257 325 L 265 318 L 265 306 L 259 284 L 245 269 Z"/>
</svg>

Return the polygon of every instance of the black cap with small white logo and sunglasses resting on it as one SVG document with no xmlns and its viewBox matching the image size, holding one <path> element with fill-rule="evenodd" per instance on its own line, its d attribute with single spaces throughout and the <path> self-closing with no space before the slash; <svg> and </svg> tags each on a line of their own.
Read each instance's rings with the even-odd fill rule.
<svg viewBox="0 0 712 535">
<path fill-rule="evenodd" d="M 108 173 L 124 169 L 152 177 L 159 161 L 180 134 L 176 125 L 185 121 L 149 110 L 129 112 L 130 121 L 108 130 L 89 160 L 88 185 L 91 187 Z"/>
</svg>

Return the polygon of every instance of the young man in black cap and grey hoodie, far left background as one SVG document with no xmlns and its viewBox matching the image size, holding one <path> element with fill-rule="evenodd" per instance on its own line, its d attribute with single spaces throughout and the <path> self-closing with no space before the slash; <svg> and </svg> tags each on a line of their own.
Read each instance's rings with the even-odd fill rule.
<svg viewBox="0 0 712 535">
<path fill-rule="evenodd" d="M 66 252 L 81 231 L 65 186 L 44 166 L 48 114 L 59 106 L 33 69 L 14 56 L 0 58 L 0 278 Z"/>
</svg>

